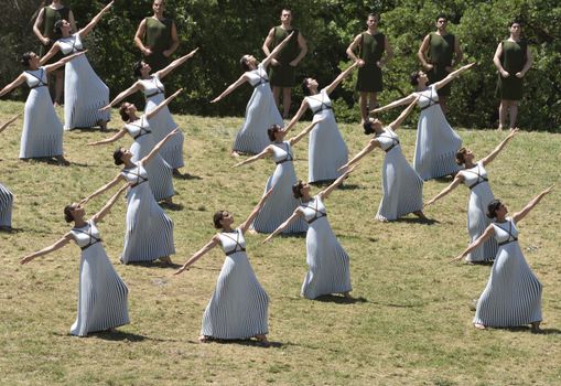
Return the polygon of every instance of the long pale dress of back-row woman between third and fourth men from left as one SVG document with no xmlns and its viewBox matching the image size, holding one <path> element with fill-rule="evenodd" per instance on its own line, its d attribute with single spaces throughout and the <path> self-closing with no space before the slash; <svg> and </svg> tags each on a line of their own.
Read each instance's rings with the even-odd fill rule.
<svg viewBox="0 0 561 386">
<path fill-rule="evenodd" d="M 310 132 L 308 142 L 308 182 L 333 181 L 341 175 L 338 169 L 348 161 L 348 150 L 341 136 L 333 107 L 325 88 L 305 97 L 314 120 L 322 118 Z"/>
</svg>

